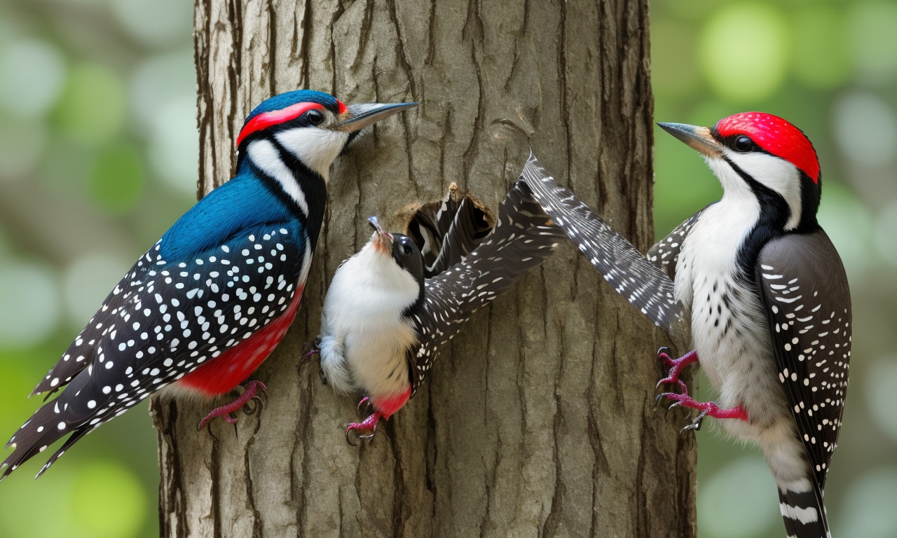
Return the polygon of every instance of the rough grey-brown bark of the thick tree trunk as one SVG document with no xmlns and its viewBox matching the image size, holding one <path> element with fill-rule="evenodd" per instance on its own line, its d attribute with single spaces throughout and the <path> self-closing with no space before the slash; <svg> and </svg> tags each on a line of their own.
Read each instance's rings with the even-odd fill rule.
<svg viewBox="0 0 897 538">
<path fill-rule="evenodd" d="M 335 164 L 300 313 L 235 426 L 153 402 L 164 536 L 695 535 L 695 447 L 654 407 L 661 334 L 572 247 L 471 318 L 411 402 L 353 448 L 353 398 L 297 373 L 327 282 L 452 181 L 494 208 L 531 144 L 638 247 L 651 226 L 647 0 L 197 0 L 200 191 L 259 101 L 416 100 Z"/>
</svg>

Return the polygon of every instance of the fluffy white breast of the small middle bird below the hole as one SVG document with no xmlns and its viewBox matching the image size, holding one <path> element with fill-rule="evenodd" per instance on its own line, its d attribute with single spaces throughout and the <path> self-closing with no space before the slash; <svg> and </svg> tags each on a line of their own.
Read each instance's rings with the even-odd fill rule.
<svg viewBox="0 0 897 538">
<path fill-rule="evenodd" d="M 405 355 L 417 337 L 402 312 L 418 288 L 389 256 L 366 249 L 345 262 L 327 291 L 321 367 L 336 390 L 387 397 L 409 384 Z"/>
</svg>

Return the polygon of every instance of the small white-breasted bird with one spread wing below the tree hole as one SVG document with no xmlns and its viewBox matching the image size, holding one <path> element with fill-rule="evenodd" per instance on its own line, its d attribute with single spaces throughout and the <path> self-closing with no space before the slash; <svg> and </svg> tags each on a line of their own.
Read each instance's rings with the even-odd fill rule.
<svg viewBox="0 0 897 538">
<path fill-rule="evenodd" d="M 452 220 L 450 212 L 441 213 Z M 452 231 L 440 240 L 442 255 L 430 265 L 411 238 L 382 230 L 374 218 L 370 222 L 368 243 L 334 274 L 312 351 L 319 353 L 330 386 L 364 395 L 361 402 L 373 410 L 347 428 L 351 444 L 355 436 L 371 437 L 380 419 L 405 405 L 440 346 L 471 314 L 541 265 L 564 238 L 522 182 L 501 203 L 484 239 L 471 239 L 479 229 L 462 206 Z M 439 265 L 448 268 L 428 278 L 427 267 Z"/>
</svg>

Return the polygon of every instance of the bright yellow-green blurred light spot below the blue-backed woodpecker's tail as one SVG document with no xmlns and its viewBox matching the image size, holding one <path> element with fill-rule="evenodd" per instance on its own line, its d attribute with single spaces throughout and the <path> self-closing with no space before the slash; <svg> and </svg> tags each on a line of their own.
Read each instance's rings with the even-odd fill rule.
<svg viewBox="0 0 897 538">
<path fill-rule="evenodd" d="M 131 536 L 144 525 L 147 499 L 140 482 L 114 461 L 79 465 L 68 499 L 69 517 L 78 534 L 70 538 Z"/>
</svg>

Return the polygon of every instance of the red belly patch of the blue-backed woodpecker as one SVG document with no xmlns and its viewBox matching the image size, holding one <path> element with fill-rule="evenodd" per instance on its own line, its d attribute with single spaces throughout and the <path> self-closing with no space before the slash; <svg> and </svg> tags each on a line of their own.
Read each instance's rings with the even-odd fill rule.
<svg viewBox="0 0 897 538">
<path fill-rule="evenodd" d="M 261 366 L 271 351 L 283 340 L 283 335 L 296 317 L 296 309 L 302 299 L 303 286 L 293 295 L 290 306 L 274 320 L 248 339 L 224 351 L 210 362 L 181 377 L 180 386 L 186 386 L 205 396 L 231 392 L 240 382 Z"/>
</svg>

